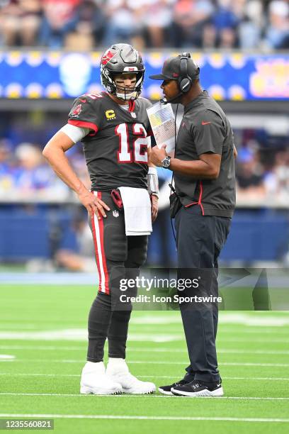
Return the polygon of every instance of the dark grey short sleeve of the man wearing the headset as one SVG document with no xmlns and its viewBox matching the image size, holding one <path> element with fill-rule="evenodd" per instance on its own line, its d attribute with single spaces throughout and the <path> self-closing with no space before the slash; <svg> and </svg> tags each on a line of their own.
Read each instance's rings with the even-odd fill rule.
<svg viewBox="0 0 289 434">
<path fill-rule="evenodd" d="M 198 155 L 205 152 L 222 155 L 225 126 L 222 118 L 215 111 L 206 110 L 200 113 L 191 127 L 191 134 Z"/>
</svg>

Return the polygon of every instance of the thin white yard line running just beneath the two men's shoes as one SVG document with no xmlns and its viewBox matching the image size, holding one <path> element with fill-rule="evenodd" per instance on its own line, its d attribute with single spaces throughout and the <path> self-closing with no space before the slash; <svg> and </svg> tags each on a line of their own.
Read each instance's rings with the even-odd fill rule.
<svg viewBox="0 0 289 434">
<path fill-rule="evenodd" d="M 84 397 L 84 396 L 96 396 L 96 395 L 86 395 L 86 394 L 36 394 L 36 393 L 16 393 L 16 392 L 0 392 L 0 396 L 78 396 L 78 397 Z M 139 398 L 160 398 L 160 399 L 176 399 L 176 396 L 169 396 L 169 395 L 129 395 L 129 394 L 121 394 L 121 395 L 97 395 L 97 396 L 108 396 L 109 398 L 134 398 L 135 396 L 138 396 Z M 191 396 L 177 396 L 177 398 L 187 398 L 192 399 Z M 203 398 L 198 396 L 197 398 Z M 211 396 L 205 396 L 205 398 L 211 398 Z M 275 397 L 275 396 L 218 396 L 217 399 L 254 399 L 254 400 L 265 400 L 265 401 L 289 401 L 289 397 L 287 398 L 281 398 L 281 397 Z M 1 415 L 0 415 L 1 417 Z M 289 419 L 288 419 L 289 421 Z"/>
</svg>

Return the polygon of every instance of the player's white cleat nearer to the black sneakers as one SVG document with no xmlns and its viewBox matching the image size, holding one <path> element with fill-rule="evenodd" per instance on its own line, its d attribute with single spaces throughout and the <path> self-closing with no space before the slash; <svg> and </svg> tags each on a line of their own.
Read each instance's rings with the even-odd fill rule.
<svg viewBox="0 0 289 434">
<path fill-rule="evenodd" d="M 125 394 L 152 394 L 156 391 L 154 383 L 141 382 L 130 374 L 125 359 L 110 358 L 106 368 L 106 374 L 113 382 L 121 384 Z"/>
</svg>

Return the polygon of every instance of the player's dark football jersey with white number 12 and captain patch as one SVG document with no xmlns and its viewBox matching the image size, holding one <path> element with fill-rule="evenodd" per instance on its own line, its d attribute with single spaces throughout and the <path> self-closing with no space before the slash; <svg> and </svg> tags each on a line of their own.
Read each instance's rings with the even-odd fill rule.
<svg viewBox="0 0 289 434">
<path fill-rule="evenodd" d="M 152 133 L 146 109 L 151 105 L 139 98 L 125 110 L 104 91 L 74 101 L 68 123 L 90 128 L 82 145 L 92 190 L 147 188 L 147 145 Z"/>
</svg>

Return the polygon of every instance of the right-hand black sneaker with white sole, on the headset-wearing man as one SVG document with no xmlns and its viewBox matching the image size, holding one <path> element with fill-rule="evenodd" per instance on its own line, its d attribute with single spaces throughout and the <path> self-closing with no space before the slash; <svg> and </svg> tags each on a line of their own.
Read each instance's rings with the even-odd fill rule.
<svg viewBox="0 0 289 434">
<path fill-rule="evenodd" d="M 222 381 L 215 383 L 193 380 L 191 383 L 172 387 L 174 395 L 180 396 L 223 396 Z"/>
</svg>

